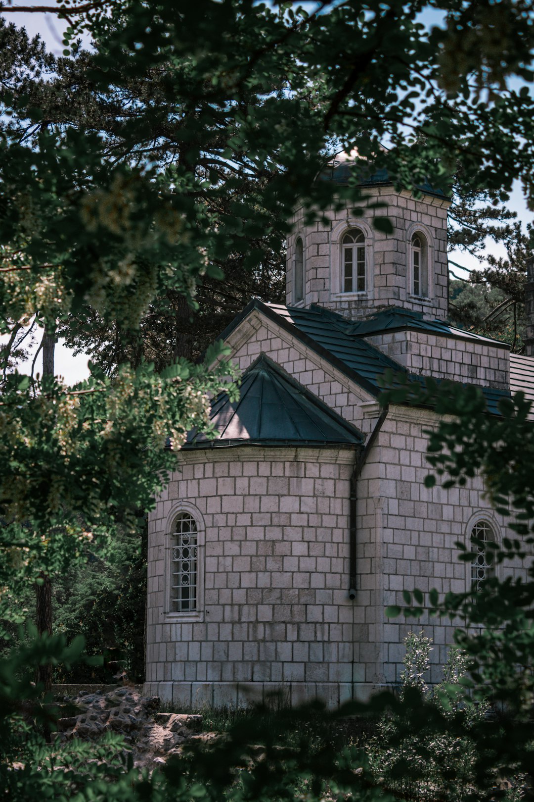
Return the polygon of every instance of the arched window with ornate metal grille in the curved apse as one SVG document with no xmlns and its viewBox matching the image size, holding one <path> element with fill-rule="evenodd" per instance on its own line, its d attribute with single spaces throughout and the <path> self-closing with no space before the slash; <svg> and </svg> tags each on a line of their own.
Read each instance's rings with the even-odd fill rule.
<svg viewBox="0 0 534 802">
<path fill-rule="evenodd" d="M 187 512 L 176 520 L 172 546 L 171 610 L 187 613 L 197 609 L 197 529 Z"/>
</svg>

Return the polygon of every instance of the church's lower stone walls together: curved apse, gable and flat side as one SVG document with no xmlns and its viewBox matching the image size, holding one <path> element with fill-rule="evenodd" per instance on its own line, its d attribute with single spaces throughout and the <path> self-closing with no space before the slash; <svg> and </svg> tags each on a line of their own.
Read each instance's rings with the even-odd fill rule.
<svg viewBox="0 0 534 802">
<path fill-rule="evenodd" d="M 255 320 L 236 358 L 263 350 L 336 411 L 369 432 L 379 409 L 315 354 Z M 319 371 L 319 372 L 315 372 Z M 430 411 L 390 407 L 358 482 L 357 593 L 348 598 L 348 489 L 354 452 L 232 448 L 182 452 L 181 472 L 149 519 L 146 692 L 182 705 L 246 703 L 282 688 L 296 703 L 331 706 L 399 682 L 403 638 L 424 627 L 435 643 L 432 681 L 454 622 L 387 619 L 402 590 L 463 591 L 469 567 L 455 541 L 469 542 L 476 516 L 504 520 L 466 488 L 424 487 Z M 167 533 L 180 505 L 203 521 L 203 593 L 195 620 L 165 611 Z M 202 559 L 202 557 L 201 557 Z M 503 574 L 521 575 L 518 565 Z"/>
</svg>

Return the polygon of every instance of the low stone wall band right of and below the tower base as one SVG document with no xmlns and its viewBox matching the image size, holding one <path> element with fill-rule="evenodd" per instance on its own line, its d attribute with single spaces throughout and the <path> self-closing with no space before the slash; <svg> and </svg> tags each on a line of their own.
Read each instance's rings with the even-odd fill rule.
<svg viewBox="0 0 534 802">
<path fill-rule="evenodd" d="M 501 390 L 510 387 L 510 351 L 504 344 L 421 331 L 374 334 L 366 339 L 412 373 Z"/>
</svg>

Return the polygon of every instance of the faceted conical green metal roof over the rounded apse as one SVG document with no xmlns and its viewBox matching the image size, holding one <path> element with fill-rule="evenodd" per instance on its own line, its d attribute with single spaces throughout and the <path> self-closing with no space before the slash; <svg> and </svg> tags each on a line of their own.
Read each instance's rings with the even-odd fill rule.
<svg viewBox="0 0 534 802">
<path fill-rule="evenodd" d="M 283 373 L 265 354 L 243 374 L 239 401 L 220 393 L 211 403 L 210 419 L 219 438 L 208 439 L 192 431 L 184 448 L 363 444 L 358 429 Z"/>
</svg>

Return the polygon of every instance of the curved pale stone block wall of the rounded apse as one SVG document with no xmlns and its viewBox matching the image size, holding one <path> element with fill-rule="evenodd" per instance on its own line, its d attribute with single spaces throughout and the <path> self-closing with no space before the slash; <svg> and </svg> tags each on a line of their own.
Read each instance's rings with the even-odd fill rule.
<svg viewBox="0 0 534 802">
<path fill-rule="evenodd" d="M 351 698 L 361 679 L 348 598 L 352 449 L 183 452 L 149 522 L 147 690 L 183 706 L 235 704 L 283 683 L 291 701 Z M 202 516 L 196 621 L 165 613 L 168 532 L 187 499 Z M 239 688 L 237 684 L 239 683 Z"/>
</svg>

